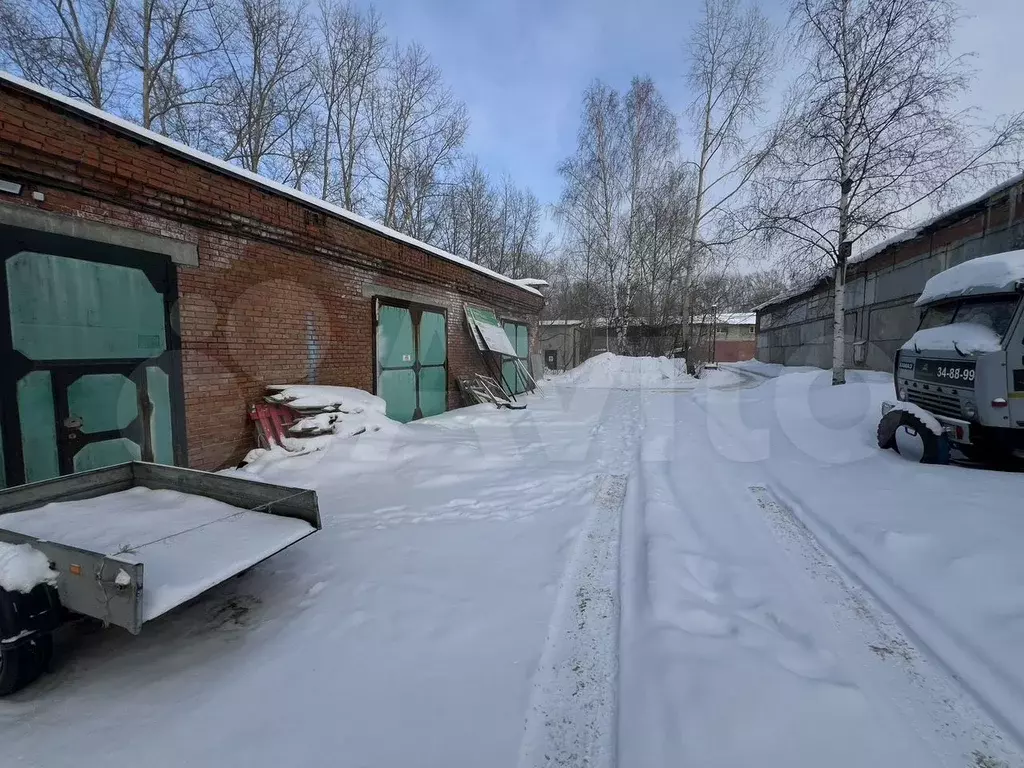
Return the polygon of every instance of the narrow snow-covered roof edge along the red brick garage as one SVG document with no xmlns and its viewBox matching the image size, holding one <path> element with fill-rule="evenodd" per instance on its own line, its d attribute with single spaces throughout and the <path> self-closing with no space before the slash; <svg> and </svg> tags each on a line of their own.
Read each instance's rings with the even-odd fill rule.
<svg viewBox="0 0 1024 768">
<path fill-rule="evenodd" d="M 468 269 L 472 269 L 475 272 L 485 274 L 488 278 L 500 281 L 502 283 L 507 283 L 510 286 L 514 286 L 522 291 L 531 293 L 535 296 L 541 296 L 541 292 L 530 286 L 526 285 L 525 282 L 516 281 L 500 272 L 496 272 L 494 269 L 488 269 L 485 266 L 476 264 L 468 259 L 464 259 L 461 256 L 456 256 L 447 251 L 442 251 L 429 243 L 424 243 L 422 241 L 416 240 L 416 238 L 411 238 L 408 234 L 403 234 L 396 229 L 392 229 L 389 226 L 384 226 L 372 219 L 368 219 L 365 216 L 359 216 L 356 213 L 345 210 L 336 205 L 332 205 L 319 198 L 315 198 L 312 195 L 307 195 L 304 191 L 295 189 L 291 186 L 286 186 L 285 184 L 272 181 L 265 176 L 260 176 L 259 174 L 247 171 L 239 166 L 231 165 L 223 160 L 208 155 L 205 152 L 200 152 L 199 150 L 194 150 L 193 147 L 181 143 L 180 141 L 175 141 L 172 138 L 161 135 L 154 131 L 142 128 L 141 126 L 135 125 L 127 120 L 117 117 L 116 115 L 111 115 L 102 110 L 97 110 L 95 106 L 87 104 L 83 101 L 71 98 L 63 94 L 57 93 L 56 91 L 51 91 L 49 88 L 44 88 L 41 85 L 36 85 L 35 83 L 30 83 L 28 80 L 23 80 L 16 75 L 11 75 L 10 73 L 0 71 L 0 81 L 10 83 L 11 85 L 17 86 L 23 90 L 30 91 L 39 96 L 42 96 L 51 101 L 56 101 L 63 106 L 78 113 L 79 115 L 85 115 L 94 120 L 104 123 L 105 125 L 117 128 L 120 131 L 135 136 L 136 138 L 143 139 L 154 144 L 159 144 L 165 150 L 168 150 L 176 155 L 180 155 L 195 163 L 210 166 L 214 170 L 220 171 L 221 173 L 226 173 L 230 176 L 241 178 L 257 186 L 261 186 L 264 189 L 272 191 L 276 195 L 282 195 L 286 198 L 291 198 L 307 206 L 312 206 L 313 208 L 318 208 L 322 211 L 330 213 L 338 218 L 345 219 L 346 221 L 355 224 L 356 226 L 361 226 L 366 229 L 371 229 L 384 236 L 385 238 L 390 238 L 391 240 L 396 240 L 407 245 L 418 248 L 421 251 L 426 251 L 427 253 L 442 258 L 446 261 L 454 262 L 460 266 L 464 266 Z"/>
</svg>

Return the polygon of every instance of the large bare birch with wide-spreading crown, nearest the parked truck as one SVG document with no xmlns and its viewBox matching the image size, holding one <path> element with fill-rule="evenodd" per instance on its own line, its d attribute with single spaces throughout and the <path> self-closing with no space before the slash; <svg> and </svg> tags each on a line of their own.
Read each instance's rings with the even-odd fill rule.
<svg viewBox="0 0 1024 768">
<path fill-rule="evenodd" d="M 954 104 L 971 82 L 951 53 L 949 0 L 797 0 L 806 71 L 763 170 L 757 215 L 769 241 L 831 267 L 833 383 L 845 382 L 844 298 L 853 246 L 914 206 L 1005 171 L 1018 114 L 990 130 Z"/>
</svg>

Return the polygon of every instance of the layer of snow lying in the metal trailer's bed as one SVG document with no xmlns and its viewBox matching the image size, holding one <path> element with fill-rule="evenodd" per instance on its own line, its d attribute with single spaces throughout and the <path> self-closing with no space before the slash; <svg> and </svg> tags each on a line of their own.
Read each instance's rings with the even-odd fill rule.
<svg viewBox="0 0 1024 768">
<path fill-rule="evenodd" d="M 145 568 L 146 622 L 313 532 L 304 520 L 145 487 L 11 512 L 0 517 L 0 525 L 40 540 L 137 558 Z"/>
</svg>

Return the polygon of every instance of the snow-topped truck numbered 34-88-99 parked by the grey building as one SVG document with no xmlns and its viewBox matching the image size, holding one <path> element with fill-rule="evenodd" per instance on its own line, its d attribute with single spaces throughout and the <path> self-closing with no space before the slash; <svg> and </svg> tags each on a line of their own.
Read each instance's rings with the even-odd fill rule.
<svg viewBox="0 0 1024 768">
<path fill-rule="evenodd" d="M 914 303 L 916 333 L 896 353 L 896 402 L 883 406 L 879 445 L 923 440 L 927 463 L 1006 463 L 1024 456 L 1024 250 L 983 256 L 931 278 Z"/>
</svg>

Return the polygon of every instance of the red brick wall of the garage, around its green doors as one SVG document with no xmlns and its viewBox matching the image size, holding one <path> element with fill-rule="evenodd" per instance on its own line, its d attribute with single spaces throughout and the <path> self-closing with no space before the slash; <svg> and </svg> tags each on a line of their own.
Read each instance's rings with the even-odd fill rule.
<svg viewBox="0 0 1024 768">
<path fill-rule="evenodd" d="M 372 286 L 447 309 L 454 377 L 482 371 L 463 302 L 529 323 L 543 299 L 243 179 L 186 161 L 0 82 L 0 178 L 20 204 L 195 243 L 178 267 L 189 464 L 213 469 L 252 446 L 246 406 L 270 383 L 307 380 L 373 390 Z M 42 191 L 45 202 L 32 199 Z"/>
</svg>

